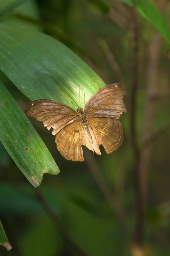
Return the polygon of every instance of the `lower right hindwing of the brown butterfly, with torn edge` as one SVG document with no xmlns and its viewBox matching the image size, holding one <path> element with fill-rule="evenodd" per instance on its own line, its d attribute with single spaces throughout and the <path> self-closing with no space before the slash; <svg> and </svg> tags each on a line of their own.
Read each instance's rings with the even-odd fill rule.
<svg viewBox="0 0 170 256">
<path fill-rule="evenodd" d="M 88 120 L 93 132 L 93 143 L 99 148 L 103 145 L 107 154 L 115 151 L 122 144 L 123 130 L 119 120 L 108 117 L 96 117 Z M 93 145 L 92 145 L 93 146 Z M 97 153 L 96 149 L 94 151 Z"/>
</svg>

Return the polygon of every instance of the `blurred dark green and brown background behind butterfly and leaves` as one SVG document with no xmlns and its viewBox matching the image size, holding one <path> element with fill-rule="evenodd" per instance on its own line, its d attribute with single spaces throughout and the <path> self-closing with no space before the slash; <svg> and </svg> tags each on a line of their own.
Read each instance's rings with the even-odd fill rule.
<svg viewBox="0 0 170 256">
<path fill-rule="evenodd" d="M 153 2 L 168 20 L 169 1 Z M 2 22 L 51 35 L 107 84 L 125 84 L 127 113 L 120 118 L 122 146 L 109 155 L 101 147 L 102 156 L 94 157 L 85 150 L 85 163 L 63 158 L 51 132 L 31 119 L 60 169 L 57 176 L 44 175 L 38 189 L 0 144 L 0 218 L 13 246 L 10 252 L 0 247 L 0 253 L 169 255 L 167 44 L 133 6 L 116 0 L 30 1 L 4 13 Z M 24 110 L 28 99 L 10 82 L 8 90 Z"/>
</svg>

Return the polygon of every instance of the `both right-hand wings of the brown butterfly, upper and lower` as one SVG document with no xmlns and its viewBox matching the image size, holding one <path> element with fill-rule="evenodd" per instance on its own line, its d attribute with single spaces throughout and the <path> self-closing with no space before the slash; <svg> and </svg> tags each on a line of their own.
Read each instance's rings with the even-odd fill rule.
<svg viewBox="0 0 170 256">
<path fill-rule="evenodd" d="M 126 112 L 125 93 L 123 84 L 109 84 L 97 90 L 85 105 L 84 112 L 91 127 L 92 147 L 96 154 L 100 153 L 99 145 L 103 145 L 109 154 L 122 144 L 123 130 L 117 119 Z"/>
</svg>

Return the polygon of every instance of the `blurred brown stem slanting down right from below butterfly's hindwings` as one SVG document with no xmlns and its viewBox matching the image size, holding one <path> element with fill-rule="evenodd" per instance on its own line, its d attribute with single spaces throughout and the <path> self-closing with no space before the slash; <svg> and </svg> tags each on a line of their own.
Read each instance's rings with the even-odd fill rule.
<svg viewBox="0 0 170 256">
<path fill-rule="evenodd" d="M 116 197 L 113 195 L 113 192 L 111 188 L 108 186 L 108 183 L 105 181 L 105 178 L 103 177 L 102 173 L 100 172 L 99 166 L 97 165 L 94 157 L 91 155 L 91 152 L 83 148 L 83 154 L 85 157 L 85 163 L 87 164 L 88 168 L 90 169 L 92 175 L 94 176 L 94 179 L 96 183 L 99 186 L 99 189 L 105 196 L 106 201 L 108 202 L 108 205 L 110 206 L 113 213 L 116 215 L 116 218 L 119 221 L 119 224 L 121 225 L 122 229 L 126 230 L 126 224 L 125 224 L 125 213 L 124 209 L 122 209 L 121 205 L 117 201 Z"/>
</svg>

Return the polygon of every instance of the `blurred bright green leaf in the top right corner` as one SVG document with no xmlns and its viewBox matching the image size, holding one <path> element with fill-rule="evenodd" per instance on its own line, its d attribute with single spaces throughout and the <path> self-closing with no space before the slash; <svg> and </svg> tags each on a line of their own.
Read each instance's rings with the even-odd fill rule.
<svg viewBox="0 0 170 256">
<path fill-rule="evenodd" d="M 168 25 L 156 6 L 148 0 L 136 0 L 136 7 L 140 14 L 155 26 L 163 38 L 170 44 Z"/>
</svg>

